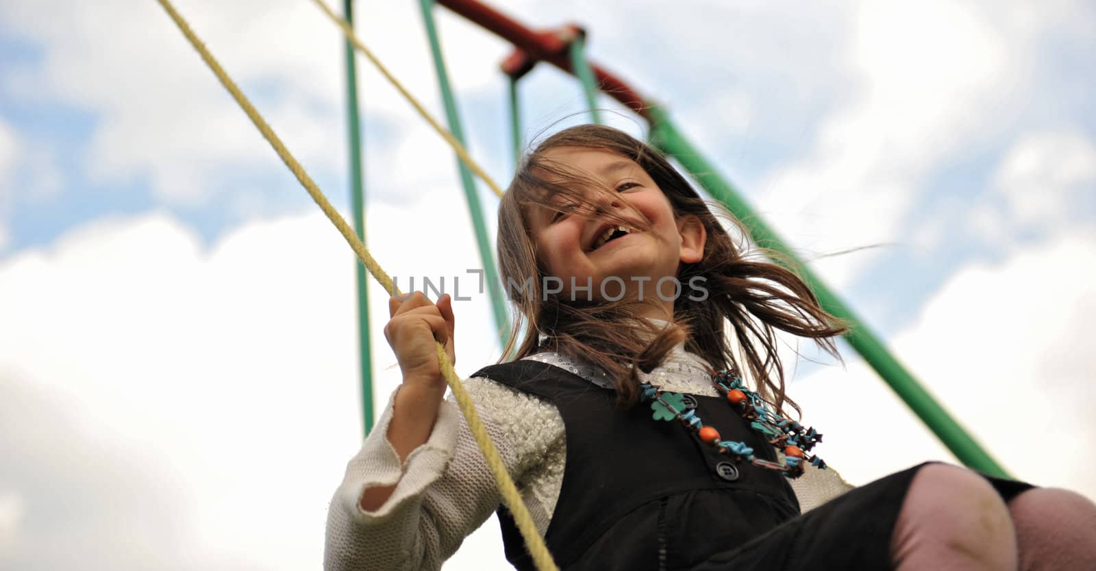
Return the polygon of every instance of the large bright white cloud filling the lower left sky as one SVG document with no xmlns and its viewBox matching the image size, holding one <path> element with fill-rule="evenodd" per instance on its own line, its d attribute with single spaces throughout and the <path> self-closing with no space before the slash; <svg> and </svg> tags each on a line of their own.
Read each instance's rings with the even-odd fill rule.
<svg viewBox="0 0 1096 571">
<path fill-rule="evenodd" d="M 466 217 L 445 214 L 461 201 L 423 193 L 411 204 L 422 213 L 414 226 L 374 208 L 374 255 L 404 283 L 479 267 Z M 0 491 L 13 487 L 22 500 L 19 511 L 5 500 L 3 521 L 85 516 L 19 524 L 3 560 L 318 567 L 328 501 L 359 444 L 352 275 L 349 249 L 319 215 L 242 227 L 208 252 L 164 215 L 103 220 L 5 260 L 0 408 L 20 430 L 3 431 L 0 448 L 22 461 Z M 461 295 L 472 286 L 463 283 Z M 379 407 L 399 372 L 381 332 L 387 296 L 373 286 L 370 301 Z M 483 341 L 492 336 L 484 298 L 473 294 L 456 311 L 467 375 L 499 347 Z M 78 505 L 60 503 L 72 494 Z M 486 527 L 477 541 L 498 547 Z M 492 551 L 501 561 L 501 548 Z"/>
</svg>

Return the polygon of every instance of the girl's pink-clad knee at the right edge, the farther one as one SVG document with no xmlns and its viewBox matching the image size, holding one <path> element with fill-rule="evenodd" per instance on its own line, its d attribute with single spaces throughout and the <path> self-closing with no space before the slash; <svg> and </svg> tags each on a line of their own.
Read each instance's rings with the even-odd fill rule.
<svg viewBox="0 0 1096 571">
<path fill-rule="evenodd" d="M 1096 505 L 1059 488 L 1035 488 L 1008 502 L 1020 571 L 1096 569 Z"/>
</svg>

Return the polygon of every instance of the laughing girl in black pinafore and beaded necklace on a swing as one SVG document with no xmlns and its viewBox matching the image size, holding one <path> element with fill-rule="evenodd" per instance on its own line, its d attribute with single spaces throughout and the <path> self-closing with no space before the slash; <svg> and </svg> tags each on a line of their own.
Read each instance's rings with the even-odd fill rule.
<svg viewBox="0 0 1096 571">
<path fill-rule="evenodd" d="M 498 248 L 515 358 L 466 386 L 560 569 L 1096 569 L 1096 506 L 1075 493 L 939 462 L 848 490 L 824 469 L 821 436 L 786 418 L 774 328 L 836 355 L 844 324 L 744 256 L 630 136 L 541 142 L 502 199 Z M 403 384 L 332 500 L 326 568 L 438 569 L 498 511 L 507 559 L 533 569 L 443 399 L 449 297 L 389 309 Z"/>
</svg>

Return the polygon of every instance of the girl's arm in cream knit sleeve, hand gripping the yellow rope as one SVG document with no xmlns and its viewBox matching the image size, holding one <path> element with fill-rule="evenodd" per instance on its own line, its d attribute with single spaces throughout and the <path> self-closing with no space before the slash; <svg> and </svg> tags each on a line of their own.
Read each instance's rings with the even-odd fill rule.
<svg viewBox="0 0 1096 571">
<path fill-rule="evenodd" d="M 324 567 L 329 571 L 383 569 L 436 570 L 499 505 L 494 478 L 456 406 L 443 401 L 446 384 L 435 341 L 454 357 L 453 305 L 415 292 L 389 299 L 391 319 L 385 336 L 392 346 L 403 382 L 362 450 L 346 466 L 328 513 Z M 528 438 L 522 399 L 490 381 L 498 395 L 477 398 L 488 434 L 515 480 L 537 461 Z M 471 392 L 471 390 L 469 390 Z M 473 395 L 476 398 L 476 395 Z M 502 402 L 501 408 L 499 401 Z M 558 416 L 550 404 L 550 413 Z M 490 410 L 487 410 L 490 409 Z M 491 411 L 504 411 L 494 422 Z M 534 415 L 535 416 L 535 415 Z M 517 425 L 517 430 L 514 426 Z M 562 422 L 556 437 L 562 437 Z M 534 454 L 522 450 L 533 450 Z M 539 511 L 547 522 L 545 511 Z M 547 527 L 545 523 L 544 527 Z"/>
</svg>

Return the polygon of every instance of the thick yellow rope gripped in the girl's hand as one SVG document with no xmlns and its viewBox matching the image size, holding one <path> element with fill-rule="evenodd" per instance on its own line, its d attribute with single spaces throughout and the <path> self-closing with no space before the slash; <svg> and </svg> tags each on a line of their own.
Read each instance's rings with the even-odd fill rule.
<svg viewBox="0 0 1096 571">
<path fill-rule="evenodd" d="M 198 39 L 198 37 L 191 30 L 191 26 L 185 20 L 183 20 L 183 16 L 175 11 L 169 0 L 157 1 L 175 22 L 175 25 L 179 26 L 179 30 L 182 31 L 183 35 L 186 36 L 186 39 L 189 39 L 191 45 L 194 46 L 194 49 L 198 52 L 202 59 L 207 66 L 209 66 L 209 69 L 213 70 L 214 75 L 217 76 L 217 79 L 219 79 L 221 84 L 225 85 L 225 89 L 227 89 L 232 95 L 232 99 L 239 103 L 240 107 L 248 114 L 251 122 L 255 124 L 255 127 L 258 127 L 259 132 L 262 133 L 263 138 L 271 144 L 271 147 L 274 147 L 274 151 L 277 152 L 285 165 L 293 171 L 293 174 L 298 181 L 300 181 L 300 184 L 305 187 L 305 190 L 308 191 L 309 196 L 316 201 L 316 204 L 320 206 L 320 209 L 323 210 L 323 214 L 327 215 L 328 219 L 335 225 L 335 228 L 339 229 L 339 232 L 350 244 L 351 249 L 354 250 L 357 258 L 369 270 L 373 277 L 380 283 L 389 295 L 398 295 L 399 290 L 396 288 L 395 284 L 392 284 L 392 279 L 385 273 L 384 270 L 380 269 L 380 265 L 377 264 L 376 260 L 369 255 L 369 251 L 365 248 L 365 244 L 357 239 L 357 236 L 354 233 L 354 230 L 350 227 L 350 225 L 346 224 L 346 220 L 343 219 L 333 206 L 331 206 L 331 203 L 329 203 L 327 197 L 323 196 L 319 186 L 317 186 L 308 173 L 305 172 L 304 167 L 301 167 L 300 163 L 297 162 L 297 159 L 289 153 L 289 150 L 282 142 L 282 139 L 274 134 L 274 129 L 266 124 L 266 121 L 263 119 L 262 115 L 260 115 L 251 102 L 248 101 L 248 98 L 240 91 L 240 88 L 238 88 L 232 79 L 228 77 L 228 73 L 226 73 L 224 68 L 220 67 L 220 64 L 218 64 L 213 57 L 213 54 L 206 49 L 202 41 Z M 364 48 L 364 46 L 359 46 L 359 48 Z M 454 142 L 455 141 L 450 141 L 450 144 Z M 459 150 L 458 155 L 460 155 Z M 465 160 L 466 157 L 467 153 L 464 153 L 461 156 L 461 160 Z M 480 171 L 480 175 L 484 176 L 482 171 Z M 540 571 L 558 571 L 556 562 L 552 561 L 551 553 L 548 552 L 548 547 L 544 543 L 544 538 L 540 537 L 539 532 L 537 532 L 536 524 L 533 522 L 533 516 L 529 515 L 528 510 L 525 507 L 525 503 L 522 502 L 522 495 L 517 492 L 517 487 L 514 486 L 514 481 L 510 478 L 510 475 L 506 473 L 506 467 L 502 462 L 502 458 L 499 456 L 499 450 L 495 449 L 494 443 L 491 442 L 490 436 L 487 434 L 487 429 L 483 426 L 483 422 L 476 412 L 476 407 L 472 404 L 471 397 L 468 396 L 468 391 L 465 390 L 465 387 L 461 385 L 456 372 L 453 370 L 453 363 L 449 361 L 448 355 L 445 354 L 445 347 L 443 347 L 441 343 L 436 342 L 435 345 L 435 349 L 437 350 L 437 361 L 441 364 L 442 374 L 445 375 L 445 381 L 448 382 L 449 388 L 453 389 L 453 396 L 457 400 L 457 406 L 460 408 L 460 412 L 464 413 L 465 419 L 468 421 L 468 427 L 471 430 L 472 436 L 476 438 L 476 443 L 480 447 L 480 452 L 483 453 L 483 458 L 487 460 L 488 467 L 494 475 L 495 482 L 499 486 L 499 491 L 502 493 L 503 503 L 506 504 L 506 507 L 513 514 L 517 528 L 522 532 L 522 536 L 525 537 L 525 544 L 529 553 L 533 556 L 533 560 L 536 563 L 537 569 Z"/>
</svg>

